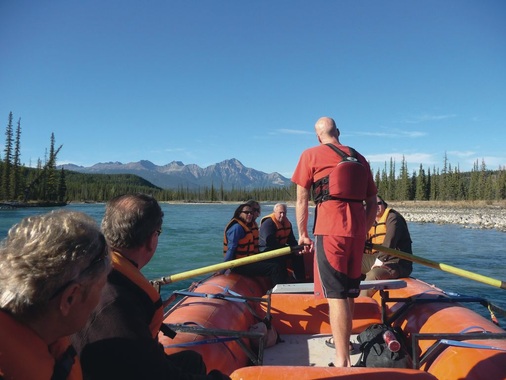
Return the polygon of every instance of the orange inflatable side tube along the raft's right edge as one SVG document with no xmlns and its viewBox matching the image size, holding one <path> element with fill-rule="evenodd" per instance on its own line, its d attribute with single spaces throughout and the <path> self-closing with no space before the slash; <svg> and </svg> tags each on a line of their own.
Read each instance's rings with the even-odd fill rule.
<svg viewBox="0 0 506 380">
<path fill-rule="evenodd" d="M 414 352 L 418 358 L 432 350 L 439 340 L 417 339 L 413 345 L 413 336 L 423 337 L 424 334 L 465 335 L 466 332 L 500 334 L 506 332 L 492 321 L 455 302 L 455 300 L 445 302 L 445 298 L 449 296 L 441 289 L 414 278 L 408 278 L 406 282 L 408 285 L 406 288 L 389 291 L 390 298 L 405 298 L 406 301 L 388 303 L 387 314 L 392 315 L 404 307 L 406 302 L 413 299 L 423 299 L 423 302 L 414 301 L 393 321 L 394 326 L 400 326 L 403 329 L 408 345 L 414 346 Z M 375 294 L 374 298 L 381 302 L 379 294 Z M 431 298 L 436 301 L 428 302 L 427 300 Z M 462 339 L 462 342 L 506 349 L 506 340 L 504 339 L 480 341 Z M 430 360 L 423 363 L 421 369 L 439 379 L 486 378 L 487 380 L 503 380 L 506 374 L 506 353 L 496 350 L 446 346 L 439 349 L 438 355 L 432 355 Z"/>
</svg>

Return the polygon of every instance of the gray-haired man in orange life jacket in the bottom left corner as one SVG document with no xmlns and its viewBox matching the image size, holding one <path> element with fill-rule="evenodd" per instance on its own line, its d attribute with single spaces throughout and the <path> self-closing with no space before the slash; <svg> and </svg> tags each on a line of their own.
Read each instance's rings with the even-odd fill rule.
<svg viewBox="0 0 506 380">
<path fill-rule="evenodd" d="M 29 216 L 0 244 L 0 377 L 81 379 L 69 336 L 96 307 L 111 259 L 96 222 Z"/>
</svg>

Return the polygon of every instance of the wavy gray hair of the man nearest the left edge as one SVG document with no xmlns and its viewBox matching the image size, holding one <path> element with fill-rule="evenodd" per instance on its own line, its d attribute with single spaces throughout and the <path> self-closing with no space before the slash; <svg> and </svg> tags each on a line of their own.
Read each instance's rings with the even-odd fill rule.
<svg viewBox="0 0 506 380">
<path fill-rule="evenodd" d="M 0 308 L 30 317 L 77 279 L 98 278 L 110 267 L 90 216 L 60 210 L 26 217 L 0 243 Z"/>
</svg>

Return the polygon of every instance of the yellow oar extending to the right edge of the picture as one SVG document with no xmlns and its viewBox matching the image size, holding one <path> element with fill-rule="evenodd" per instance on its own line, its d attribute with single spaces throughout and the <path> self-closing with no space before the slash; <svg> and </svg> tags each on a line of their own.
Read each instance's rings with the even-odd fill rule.
<svg viewBox="0 0 506 380">
<path fill-rule="evenodd" d="M 388 253 L 392 256 L 400 257 L 401 259 L 404 259 L 404 260 L 409 260 L 409 261 L 413 261 L 414 263 L 426 265 L 431 268 L 440 269 L 444 272 L 453 273 L 453 274 L 456 274 L 457 276 L 469 278 L 474 281 L 478 281 L 478 282 L 482 282 L 487 285 L 495 286 L 496 288 L 506 289 L 506 282 L 501 281 L 501 280 L 496 280 L 495 278 L 483 276 L 481 274 L 470 272 L 465 269 L 452 267 L 451 265 L 447 265 L 444 263 L 438 263 L 436 261 L 424 259 L 423 257 L 415 256 L 410 253 L 406 253 L 406 252 L 402 252 L 402 251 L 398 251 L 393 248 L 383 247 L 382 245 L 379 245 L 379 244 L 371 244 L 371 247 L 377 251 L 382 251 L 382 252 Z"/>
</svg>

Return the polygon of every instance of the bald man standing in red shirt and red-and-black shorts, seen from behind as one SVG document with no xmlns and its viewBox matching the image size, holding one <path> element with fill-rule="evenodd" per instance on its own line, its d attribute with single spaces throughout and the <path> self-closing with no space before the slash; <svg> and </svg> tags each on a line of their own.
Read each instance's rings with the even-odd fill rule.
<svg viewBox="0 0 506 380">
<path fill-rule="evenodd" d="M 315 297 L 326 298 L 329 304 L 334 365 L 349 367 L 354 299 L 360 291 L 366 233 L 376 216 L 377 189 L 366 159 L 339 142 L 333 119 L 320 118 L 315 132 L 320 145 L 302 152 L 292 176 L 297 184 L 299 244 L 308 244 L 306 250 L 313 248 L 307 229 L 312 190 L 316 203 Z"/>
</svg>

